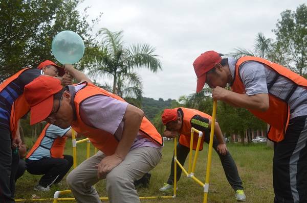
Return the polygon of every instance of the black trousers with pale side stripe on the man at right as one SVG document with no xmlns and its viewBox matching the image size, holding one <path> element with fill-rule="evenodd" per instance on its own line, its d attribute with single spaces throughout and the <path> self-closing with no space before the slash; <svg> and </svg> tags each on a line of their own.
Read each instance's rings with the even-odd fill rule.
<svg viewBox="0 0 307 203">
<path fill-rule="evenodd" d="M 286 135 L 274 143 L 275 203 L 307 202 L 307 116 L 290 120 Z"/>
</svg>

